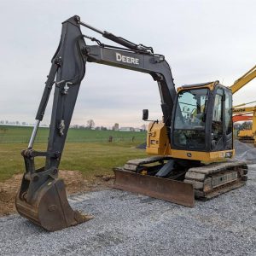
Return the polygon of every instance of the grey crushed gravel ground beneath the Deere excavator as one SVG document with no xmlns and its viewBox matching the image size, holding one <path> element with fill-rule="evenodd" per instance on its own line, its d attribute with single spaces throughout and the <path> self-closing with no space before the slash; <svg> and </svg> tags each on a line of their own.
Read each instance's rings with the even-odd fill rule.
<svg viewBox="0 0 256 256">
<path fill-rule="evenodd" d="M 256 165 L 247 185 L 194 208 L 117 189 L 70 196 L 92 213 L 54 233 L 19 215 L 0 218 L 1 255 L 256 255 Z"/>
</svg>

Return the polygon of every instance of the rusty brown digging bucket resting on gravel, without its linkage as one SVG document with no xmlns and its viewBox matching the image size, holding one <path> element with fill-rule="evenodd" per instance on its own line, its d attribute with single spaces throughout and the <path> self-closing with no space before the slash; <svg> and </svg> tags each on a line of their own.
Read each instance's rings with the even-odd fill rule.
<svg viewBox="0 0 256 256">
<path fill-rule="evenodd" d="M 21 216 L 32 220 L 45 230 L 62 230 L 93 218 L 73 211 L 67 201 L 64 182 L 59 178 L 53 178 L 41 185 L 30 199 L 29 192 L 22 192 L 24 186 L 26 180 L 23 177 L 20 191 L 16 196 L 16 209 Z"/>
</svg>

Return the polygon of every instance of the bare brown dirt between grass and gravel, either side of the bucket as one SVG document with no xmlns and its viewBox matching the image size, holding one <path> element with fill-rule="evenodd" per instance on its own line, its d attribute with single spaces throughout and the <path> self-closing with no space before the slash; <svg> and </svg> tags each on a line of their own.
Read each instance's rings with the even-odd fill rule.
<svg viewBox="0 0 256 256">
<path fill-rule="evenodd" d="M 99 175 L 89 181 L 84 179 L 79 171 L 60 171 L 59 177 L 64 179 L 67 195 L 108 189 L 112 186 L 114 178 L 114 176 Z M 15 195 L 20 188 L 21 178 L 22 174 L 17 174 L 4 183 L 0 182 L 0 216 L 16 212 Z"/>
</svg>

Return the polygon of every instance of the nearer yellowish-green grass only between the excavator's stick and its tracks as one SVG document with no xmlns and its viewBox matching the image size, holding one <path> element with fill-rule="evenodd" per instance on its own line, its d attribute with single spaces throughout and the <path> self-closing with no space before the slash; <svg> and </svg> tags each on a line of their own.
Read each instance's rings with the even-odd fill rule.
<svg viewBox="0 0 256 256">
<path fill-rule="evenodd" d="M 136 143 L 67 143 L 60 168 L 79 170 L 86 178 L 113 174 L 113 167 L 146 156 L 145 150 L 135 146 Z"/>
</svg>

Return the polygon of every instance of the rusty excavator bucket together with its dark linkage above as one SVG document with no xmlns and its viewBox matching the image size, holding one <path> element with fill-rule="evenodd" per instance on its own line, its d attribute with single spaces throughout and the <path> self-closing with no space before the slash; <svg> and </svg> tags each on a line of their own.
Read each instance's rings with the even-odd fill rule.
<svg viewBox="0 0 256 256">
<path fill-rule="evenodd" d="M 34 157 L 43 152 L 26 149 L 21 154 L 28 171 L 23 175 L 15 201 L 21 216 L 49 231 L 65 229 L 93 218 L 70 207 L 64 182 L 58 178 L 56 168 L 34 170 Z"/>
</svg>

